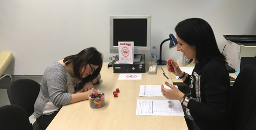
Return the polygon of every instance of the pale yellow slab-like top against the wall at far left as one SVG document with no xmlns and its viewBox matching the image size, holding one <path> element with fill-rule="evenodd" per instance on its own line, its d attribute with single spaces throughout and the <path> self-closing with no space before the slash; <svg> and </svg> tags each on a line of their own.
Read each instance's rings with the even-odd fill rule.
<svg viewBox="0 0 256 130">
<path fill-rule="evenodd" d="M 13 55 L 11 52 L 0 52 L 0 76 L 4 73 L 9 63 L 12 61 Z"/>
</svg>

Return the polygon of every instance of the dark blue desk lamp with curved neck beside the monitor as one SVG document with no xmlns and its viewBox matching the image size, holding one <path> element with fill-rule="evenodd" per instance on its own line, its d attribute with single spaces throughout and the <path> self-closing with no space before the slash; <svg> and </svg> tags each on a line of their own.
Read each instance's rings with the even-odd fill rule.
<svg viewBox="0 0 256 130">
<path fill-rule="evenodd" d="M 162 46 L 163 46 L 163 43 L 168 40 L 170 40 L 169 48 L 174 48 L 178 45 L 177 39 L 174 37 L 172 33 L 169 35 L 169 38 L 163 40 L 160 44 L 160 57 L 159 57 L 159 60 L 157 60 L 157 65 L 166 65 L 166 60 L 162 60 Z"/>
</svg>

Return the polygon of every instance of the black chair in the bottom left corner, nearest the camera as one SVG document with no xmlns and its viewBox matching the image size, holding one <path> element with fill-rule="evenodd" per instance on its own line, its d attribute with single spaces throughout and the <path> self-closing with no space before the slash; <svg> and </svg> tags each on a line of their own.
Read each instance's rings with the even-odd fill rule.
<svg viewBox="0 0 256 130">
<path fill-rule="evenodd" d="M 0 128 L 16 130 L 28 129 L 33 130 L 29 122 L 29 116 L 23 107 L 18 105 L 4 105 L 0 107 Z"/>
</svg>

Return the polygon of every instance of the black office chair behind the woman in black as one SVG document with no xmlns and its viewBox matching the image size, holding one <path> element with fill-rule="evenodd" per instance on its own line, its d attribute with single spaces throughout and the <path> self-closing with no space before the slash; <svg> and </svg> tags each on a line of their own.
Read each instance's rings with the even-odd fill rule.
<svg viewBox="0 0 256 130">
<path fill-rule="evenodd" d="M 241 70 L 231 90 L 232 129 L 256 129 L 256 67 Z"/>
</svg>

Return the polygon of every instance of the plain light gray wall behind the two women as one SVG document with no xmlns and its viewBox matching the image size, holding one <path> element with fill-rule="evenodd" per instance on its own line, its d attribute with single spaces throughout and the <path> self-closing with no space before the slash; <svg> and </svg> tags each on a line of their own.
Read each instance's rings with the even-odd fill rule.
<svg viewBox="0 0 256 130">
<path fill-rule="evenodd" d="M 256 35 L 254 0 L 0 0 L 0 51 L 14 59 L 4 73 L 42 75 L 55 60 L 96 47 L 109 62 L 109 16 L 152 15 L 152 46 L 159 53 L 161 41 L 179 21 L 200 17 L 208 21 L 222 51 L 225 34 Z M 162 59 L 182 59 L 176 48 L 163 45 Z M 146 55 L 150 61 L 150 55 Z"/>
</svg>

